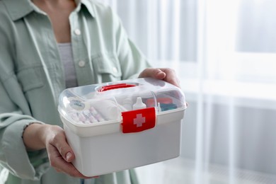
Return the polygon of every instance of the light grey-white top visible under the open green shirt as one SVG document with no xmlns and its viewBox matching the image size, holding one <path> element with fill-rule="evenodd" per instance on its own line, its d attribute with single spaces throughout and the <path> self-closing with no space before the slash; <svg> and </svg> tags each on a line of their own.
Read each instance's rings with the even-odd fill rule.
<svg viewBox="0 0 276 184">
<path fill-rule="evenodd" d="M 66 87 L 78 86 L 71 43 L 58 43 L 59 54 L 64 66 Z"/>
</svg>

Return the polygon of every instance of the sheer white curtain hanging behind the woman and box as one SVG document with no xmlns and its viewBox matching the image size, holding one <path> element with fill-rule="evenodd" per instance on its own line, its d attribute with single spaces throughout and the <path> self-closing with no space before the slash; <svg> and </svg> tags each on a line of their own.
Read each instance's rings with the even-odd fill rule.
<svg viewBox="0 0 276 184">
<path fill-rule="evenodd" d="M 142 183 L 276 183 L 276 1 L 105 3 L 189 104 L 180 157 L 137 168 Z"/>
</svg>

